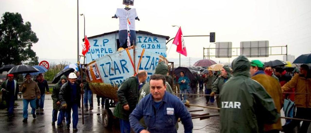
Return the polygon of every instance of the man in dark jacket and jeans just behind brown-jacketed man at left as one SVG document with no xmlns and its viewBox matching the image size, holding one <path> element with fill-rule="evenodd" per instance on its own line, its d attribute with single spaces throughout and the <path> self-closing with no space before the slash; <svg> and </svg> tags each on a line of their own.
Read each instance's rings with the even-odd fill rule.
<svg viewBox="0 0 311 133">
<path fill-rule="evenodd" d="M 45 90 L 47 91 L 47 94 L 50 93 L 50 90 L 49 90 L 49 85 L 48 85 L 48 81 L 44 80 L 43 78 L 43 74 L 40 73 L 39 74 L 39 78 L 38 80 L 36 80 L 37 84 L 38 84 L 38 87 L 40 89 L 40 99 L 38 99 L 39 101 L 39 106 L 40 106 L 40 111 L 43 111 L 43 107 L 44 107 L 44 98 L 45 98 Z"/>
</svg>

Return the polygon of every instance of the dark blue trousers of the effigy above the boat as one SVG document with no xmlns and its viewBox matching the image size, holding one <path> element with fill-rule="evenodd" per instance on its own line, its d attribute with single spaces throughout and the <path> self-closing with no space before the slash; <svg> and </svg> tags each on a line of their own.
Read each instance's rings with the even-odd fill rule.
<svg viewBox="0 0 311 133">
<path fill-rule="evenodd" d="M 130 30 L 130 41 L 131 41 L 131 46 L 134 43 L 136 45 L 136 31 L 135 30 Z M 120 42 L 120 47 L 127 48 L 128 43 L 128 30 L 119 30 L 119 42 Z"/>
</svg>

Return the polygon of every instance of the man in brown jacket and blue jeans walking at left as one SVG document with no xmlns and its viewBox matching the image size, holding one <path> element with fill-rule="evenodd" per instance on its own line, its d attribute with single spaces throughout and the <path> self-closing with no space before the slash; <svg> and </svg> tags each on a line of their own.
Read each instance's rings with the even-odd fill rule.
<svg viewBox="0 0 311 133">
<path fill-rule="evenodd" d="M 31 75 L 26 74 L 26 81 L 20 86 L 20 95 L 23 94 L 23 122 L 28 119 L 28 104 L 30 103 L 32 117 L 36 118 L 36 98 L 40 99 L 40 89 L 37 83 L 31 80 Z"/>
</svg>

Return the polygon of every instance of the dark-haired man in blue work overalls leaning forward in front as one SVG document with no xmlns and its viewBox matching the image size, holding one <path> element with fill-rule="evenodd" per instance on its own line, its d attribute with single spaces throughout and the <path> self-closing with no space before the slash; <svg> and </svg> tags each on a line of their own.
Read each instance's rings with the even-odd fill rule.
<svg viewBox="0 0 311 133">
<path fill-rule="evenodd" d="M 165 80 L 160 74 L 150 76 L 150 94 L 146 95 L 130 114 L 130 124 L 135 132 L 177 133 L 175 124 L 180 118 L 184 132 L 192 133 L 193 123 L 190 113 L 176 96 L 165 91 Z M 142 117 L 147 129 L 139 122 Z"/>
</svg>

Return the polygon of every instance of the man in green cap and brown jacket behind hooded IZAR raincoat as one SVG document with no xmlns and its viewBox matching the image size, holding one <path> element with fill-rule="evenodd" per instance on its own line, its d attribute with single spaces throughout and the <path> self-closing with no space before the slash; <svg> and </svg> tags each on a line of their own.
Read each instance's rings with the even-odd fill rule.
<svg viewBox="0 0 311 133">
<path fill-rule="evenodd" d="M 280 113 L 281 105 L 283 104 L 281 85 L 271 76 L 266 75 L 263 70 L 263 63 L 259 60 L 252 60 L 250 73 L 252 79 L 260 83 L 267 93 L 272 97 L 275 107 Z M 282 130 L 281 119 L 279 118 L 275 124 L 264 124 L 266 133 L 279 133 Z"/>
</svg>

